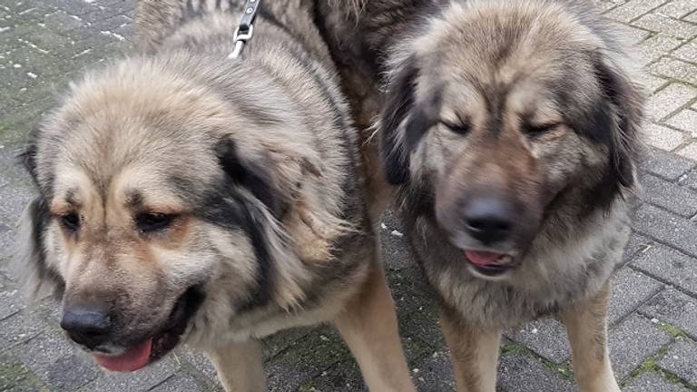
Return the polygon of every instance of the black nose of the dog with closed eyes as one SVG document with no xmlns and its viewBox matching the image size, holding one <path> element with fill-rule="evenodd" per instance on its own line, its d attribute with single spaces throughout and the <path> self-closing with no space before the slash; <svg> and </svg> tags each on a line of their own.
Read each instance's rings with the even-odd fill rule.
<svg viewBox="0 0 697 392">
<path fill-rule="evenodd" d="M 485 245 L 506 240 L 513 228 L 513 208 L 498 197 L 476 197 L 463 209 L 469 235 Z"/>
</svg>

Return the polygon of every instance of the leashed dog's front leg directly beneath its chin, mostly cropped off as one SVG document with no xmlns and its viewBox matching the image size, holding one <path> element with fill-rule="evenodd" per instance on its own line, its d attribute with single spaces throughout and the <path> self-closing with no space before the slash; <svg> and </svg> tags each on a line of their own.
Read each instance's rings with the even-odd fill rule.
<svg viewBox="0 0 697 392">
<path fill-rule="evenodd" d="M 229 342 L 207 351 L 226 392 L 265 392 L 261 344 L 250 339 Z"/>
</svg>

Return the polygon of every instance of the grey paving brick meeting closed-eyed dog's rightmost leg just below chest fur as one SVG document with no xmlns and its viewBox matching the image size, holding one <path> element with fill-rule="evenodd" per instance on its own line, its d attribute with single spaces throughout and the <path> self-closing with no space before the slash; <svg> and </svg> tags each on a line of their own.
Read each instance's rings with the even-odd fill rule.
<svg viewBox="0 0 697 392">
<path fill-rule="evenodd" d="M 607 319 L 614 325 L 663 289 L 663 284 L 641 272 L 623 268 L 615 272 Z"/>
</svg>

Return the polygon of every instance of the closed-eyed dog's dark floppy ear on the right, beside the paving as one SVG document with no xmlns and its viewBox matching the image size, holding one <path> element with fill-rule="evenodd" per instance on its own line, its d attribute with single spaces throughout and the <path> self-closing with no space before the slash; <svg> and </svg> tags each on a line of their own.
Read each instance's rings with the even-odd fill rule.
<svg viewBox="0 0 697 392">
<path fill-rule="evenodd" d="M 634 154 L 643 121 L 643 91 L 622 69 L 607 61 L 598 61 L 595 73 L 604 98 L 612 107 L 611 111 L 606 106 L 600 110 L 614 113 L 607 140 L 612 160 L 608 181 L 632 187 Z"/>
</svg>

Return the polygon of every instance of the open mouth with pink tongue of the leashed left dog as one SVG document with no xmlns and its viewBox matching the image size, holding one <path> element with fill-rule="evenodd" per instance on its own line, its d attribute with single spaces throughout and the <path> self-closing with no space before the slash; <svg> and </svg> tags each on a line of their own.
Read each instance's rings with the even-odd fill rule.
<svg viewBox="0 0 697 392">
<path fill-rule="evenodd" d="M 128 348 L 123 354 L 107 356 L 95 354 L 94 358 L 103 368 L 112 371 L 128 372 L 144 368 L 164 357 L 177 347 L 189 321 L 201 306 L 203 295 L 199 289 L 188 289 L 174 305 L 164 327 L 149 338 Z"/>
</svg>

